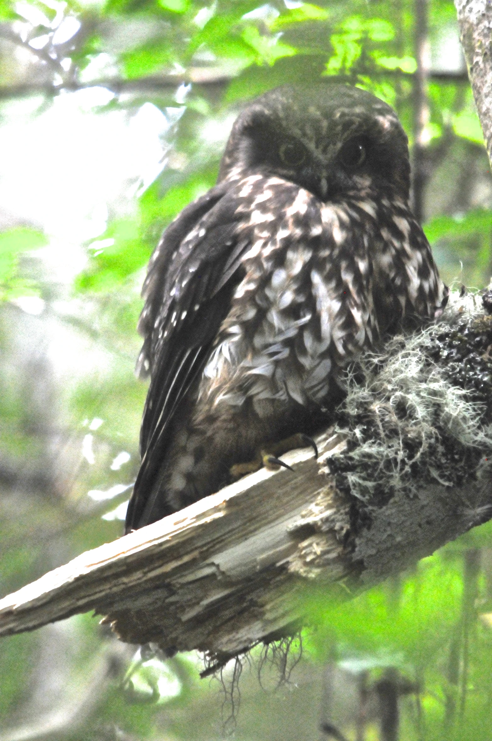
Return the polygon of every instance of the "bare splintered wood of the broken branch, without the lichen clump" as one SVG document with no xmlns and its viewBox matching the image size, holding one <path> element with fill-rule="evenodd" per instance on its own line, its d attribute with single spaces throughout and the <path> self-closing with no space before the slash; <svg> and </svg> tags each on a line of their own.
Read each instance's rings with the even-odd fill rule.
<svg viewBox="0 0 492 741">
<path fill-rule="evenodd" d="M 353 497 L 328 468 L 345 440 L 327 431 L 316 442 L 317 461 L 292 451 L 293 472 L 252 473 L 5 597 L 0 635 L 93 610 L 124 641 L 199 649 L 219 665 L 305 624 L 307 585 L 347 599 L 476 524 L 457 504 L 462 490 L 433 485 L 393 496 L 370 528 L 355 528 Z"/>
</svg>

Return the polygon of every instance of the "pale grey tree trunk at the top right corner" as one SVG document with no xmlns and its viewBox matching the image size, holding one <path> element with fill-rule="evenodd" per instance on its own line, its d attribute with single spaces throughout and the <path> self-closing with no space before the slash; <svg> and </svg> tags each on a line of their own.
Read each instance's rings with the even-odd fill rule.
<svg viewBox="0 0 492 741">
<path fill-rule="evenodd" d="M 492 4 L 489 0 L 455 0 L 454 4 L 473 98 L 492 163 Z"/>
</svg>

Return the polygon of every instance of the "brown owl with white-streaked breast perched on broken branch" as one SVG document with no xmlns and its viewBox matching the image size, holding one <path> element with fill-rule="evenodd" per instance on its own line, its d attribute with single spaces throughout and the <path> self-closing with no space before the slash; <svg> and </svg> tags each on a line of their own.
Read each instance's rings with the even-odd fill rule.
<svg viewBox="0 0 492 741">
<path fill-rule="evenodd" d="M 150 259 L 127 531 L 281 464 L 329 421 L 364 348 L 442 313 L 409 187 L 407 136 L 365 90 L 286 86 L 242 110 L 217 185 Z"/>
</svg>

